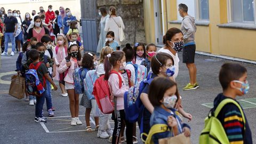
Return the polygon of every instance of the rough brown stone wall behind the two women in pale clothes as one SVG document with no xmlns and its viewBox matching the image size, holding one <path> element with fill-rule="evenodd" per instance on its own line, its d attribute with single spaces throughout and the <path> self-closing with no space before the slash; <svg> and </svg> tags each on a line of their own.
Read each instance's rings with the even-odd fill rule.
<svg viewBox="0 0 256 144">
<path fill-rule="evenodd" d="M 97 9 L 110 6 L 116 7 L 116 14 L 123 19 L 124 33 L 126 43 L 146 43 L 144 18 L 143 18 L 143 0 L 97 0 Z M 100 19 L 99 19 L 100 21 Z"/>
</svg>

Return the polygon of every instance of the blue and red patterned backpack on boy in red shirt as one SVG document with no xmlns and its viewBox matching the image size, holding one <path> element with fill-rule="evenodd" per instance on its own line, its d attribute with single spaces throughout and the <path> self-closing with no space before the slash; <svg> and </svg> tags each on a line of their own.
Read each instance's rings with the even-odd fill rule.
<svg viewBox="0 0 256 144">
<path fill-rule="evenodd" d="M 45 86 L 45 77 L 43 77 L 43 84 L 39 81 L 37 75 L 37 69 L 43 62 L 38 62 L 36 66 L 31 63 L 29 66 L 28 72 L 25 74 L 25 85 L 29 95 L 36 95 L 37 97 L 41 97 Z"/>
</svg>

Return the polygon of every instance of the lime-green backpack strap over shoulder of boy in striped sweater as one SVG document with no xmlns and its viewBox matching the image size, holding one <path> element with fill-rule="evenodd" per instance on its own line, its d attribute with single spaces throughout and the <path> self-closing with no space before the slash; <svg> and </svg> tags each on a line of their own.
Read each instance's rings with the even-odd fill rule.
<svg viewBox="0 0 256 144">
<path fill-rule="evenodd" d="M 243 109 L 241 108 L 241 106 L 233 99 L 230 99 L 230 98 L 227 98 L 227 99 L 224 99 L 222 100 L 219 105 L 217 106 L 217 108 L 215 109 L 214 111 L 214 116 L 217 117 L 218 114 L 220 113 L 221 109 L 227 105 L 228 103 L 233 103 L 234 105 L 236 105 L 239 110 L 240 110 L 240 113 L 242 115 L 242 118 L 243 118 L 243 122 L 244 122 L 244 129 L 245 129 L 245 117 L 244 117 L 244 112 L 243 112 Z"/>
</svg>

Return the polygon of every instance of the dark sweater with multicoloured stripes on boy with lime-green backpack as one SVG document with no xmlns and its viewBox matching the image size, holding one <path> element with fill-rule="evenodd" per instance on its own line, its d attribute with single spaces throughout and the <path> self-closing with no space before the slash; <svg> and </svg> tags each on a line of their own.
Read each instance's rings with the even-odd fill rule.
<svg viewBox="0 0 256 144">
<path fill-rule="evenodd" d="M 230 98 L 226 97 L 222 93 L 218 94 L 217 97 L 214 99 L 214 109 L 216 109 L 219 103 L 224 99 Z M 236 102 L 240 105 L 238 101 Z M 230 143 L 252 143 L 252 133 L 245 114 L 244 117 L 245 130 L 241 111 L 234 103 L 226 104 L 218 114 L 217 118 L 225 129 Z"/>
</svg>

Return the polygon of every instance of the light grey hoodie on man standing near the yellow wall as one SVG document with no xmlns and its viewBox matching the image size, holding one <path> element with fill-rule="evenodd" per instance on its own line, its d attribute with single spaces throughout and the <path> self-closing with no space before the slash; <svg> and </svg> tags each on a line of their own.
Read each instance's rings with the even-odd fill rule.
<svg viewBox="0 0 256 144">
<path fill-rule="evenodd" d="M 196 33 L 195 18 L 190 15 L 186 15 L 181 22 L 181 31 L 183 33 L 185 44 L 193 43 L 195 40 Z"/>
</svg>

